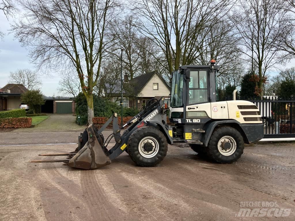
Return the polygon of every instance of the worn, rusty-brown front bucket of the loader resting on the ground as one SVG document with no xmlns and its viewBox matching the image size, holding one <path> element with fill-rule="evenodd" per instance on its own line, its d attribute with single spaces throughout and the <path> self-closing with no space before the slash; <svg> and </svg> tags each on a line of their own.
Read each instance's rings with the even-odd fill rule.
<svg viewBox="0 0 295 221">
<path fill-rule="evenodd" d="M 103 140 L 100 134 L 96 134 L 94 125 L 90 124 L 86 129 L 88 141 L 78 153 L 67 163 L 67 166 L 81 169 L 95 169 L 111 163 L 103 149 Z"/>
</svg>

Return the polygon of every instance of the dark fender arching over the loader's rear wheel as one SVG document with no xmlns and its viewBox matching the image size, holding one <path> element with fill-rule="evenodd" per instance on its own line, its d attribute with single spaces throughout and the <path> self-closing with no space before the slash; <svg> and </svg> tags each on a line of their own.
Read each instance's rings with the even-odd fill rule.
<svg viewBox="0 0 295 221">
<path fill-rule="evenodd" d="M 206 133 L 200 139 L 200 141 L 203 142 L 203 145 L 202 146 L 208 146 L 209 139 L 210 139 L 210 137 L 211 137 L 211 135 L 212 135 L 215 127 L 217 125 L 220 125 L 220 124 L 231 124 L 231 125 L 234 124 L 235 127 L 241 128 L 240 127 L 241 123 L 239 121 L 236 121 L 236 120 L 210 121 L 210 122 L 206 123 L 206 125 L 204 126 L 204 130 L 206 131 Z M 242 134 L 242 136 L 245 139 L 245 133 L 244 133 L 244 131 L 242 129 L 239 130 L 239 131 L 240 131 L 240 133 Z"/>
</svg>

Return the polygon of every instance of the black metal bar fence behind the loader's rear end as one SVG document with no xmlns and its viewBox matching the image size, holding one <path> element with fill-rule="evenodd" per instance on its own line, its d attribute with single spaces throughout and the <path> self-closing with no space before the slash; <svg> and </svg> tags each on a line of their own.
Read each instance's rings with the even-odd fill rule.
<svg viewBox="0 0 295 221">
<path fill-rule="evenodd" d="M 226 98 L 225 100 L 232 100 Z M 295 137 L 295 98 L 239 98 L 253 102 L 259 109 L 264 124 L 264 138 Z"/>
</svg>

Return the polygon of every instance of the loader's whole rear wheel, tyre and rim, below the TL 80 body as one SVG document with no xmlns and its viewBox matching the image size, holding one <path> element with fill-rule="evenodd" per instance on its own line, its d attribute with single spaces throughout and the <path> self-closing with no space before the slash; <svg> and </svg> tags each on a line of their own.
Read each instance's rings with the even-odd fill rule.
<svg viewBox="0 0 295 221">
<path fill-rule="evenodd" d="M 239 131 L 230 126 L 215 129 L 208 144 L 208 156 L 220 164 L 237 161 L 244 151 L 244 140 Z"/>
</svg>

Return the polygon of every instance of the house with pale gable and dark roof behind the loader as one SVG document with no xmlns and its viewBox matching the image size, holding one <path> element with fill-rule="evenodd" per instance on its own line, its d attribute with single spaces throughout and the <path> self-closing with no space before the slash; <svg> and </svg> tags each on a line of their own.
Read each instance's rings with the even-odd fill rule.
<svg viewBox="0 0 295 221">
<path fill-rule="evenodd" d="M 128 80 L 128 75 L 124 75 L 123 85 L 124 107 L 141 109 L 148 100 L 161 97 L 165 98 L 165 103 L 170 104 L 170 86 L 157 71 L 134 77 L 132 80 Z M 104 86 L 104 95 L 107 94 L 113 102 L 119 104 L 121 102 L 121 81 L 116 80 L 112 84 L 105 83 Z"/>
</svg>

